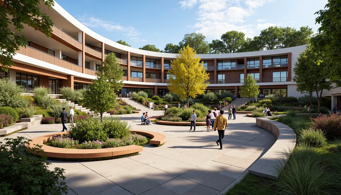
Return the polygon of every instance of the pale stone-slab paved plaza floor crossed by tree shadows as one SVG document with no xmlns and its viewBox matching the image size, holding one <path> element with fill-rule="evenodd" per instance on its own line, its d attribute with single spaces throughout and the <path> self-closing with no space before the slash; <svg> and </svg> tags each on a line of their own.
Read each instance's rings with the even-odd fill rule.
<svg viewBox="0 0 341 195">
<path fill-rule="evenodd" d="M 162 111 L 148 113 L 162 115 Z M 189 131 L 188 126 L 140 125 L 141 115 L 122 115 L 122 119 L 128 120 L 132 129 L 164 134 L 164 145 L 146 145 L 140 155 L 106 161 L 49 161 L 51 170 L 65 169 L 70 195 L 224 194 L 276 141 L 270 132 L 256 127 L 255 118 L 245 114 L 227 121 L 223 150 L 216 144 L 217 131 L 207 132 L 206 126 Z M 61 130 L 61 124 L 42 124 L 8 137 L 34 138 Z"/>
</svg>

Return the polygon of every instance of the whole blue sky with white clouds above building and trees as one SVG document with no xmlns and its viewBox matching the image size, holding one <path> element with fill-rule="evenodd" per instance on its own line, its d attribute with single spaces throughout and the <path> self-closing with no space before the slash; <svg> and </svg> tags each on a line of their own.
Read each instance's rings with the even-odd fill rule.
<svg viewBox="0 0 341 195">
<path fill-rule="evenodd" d="M 327 0 L 56 0 L 85 26 L 113 41 L 132 47 L 146 44 L 163 50 L 178 44 L 186 33 L 200 32 L 206 41 L 220 39 L 231 30 L 254 37 L 269 26 L 315 32 L 314 13 Z"/>
</svg>

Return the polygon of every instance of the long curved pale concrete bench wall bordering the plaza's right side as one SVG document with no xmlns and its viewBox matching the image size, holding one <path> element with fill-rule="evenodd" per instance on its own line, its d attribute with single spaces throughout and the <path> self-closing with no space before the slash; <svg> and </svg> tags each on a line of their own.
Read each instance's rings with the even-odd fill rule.
<svg viewBox="0 0 341 195">
<path fill-rule="evenodd" d="M 275 166 L 283 165 L 279 164 L 281 159 L 286 159 L 284 151 L 293 149 L 296 145 L 296 134 L 294 130 L 289 126 L 270 120 L 273 116 L 263 116 L 256 118 L 256 126 L 267 131 L 270 131 L 277 139 L 272 147 L 258 159 L 250 168 L 249 173 L 267 177 L 270 179 L 276 179 L 278 177 Z"/>
</svg>

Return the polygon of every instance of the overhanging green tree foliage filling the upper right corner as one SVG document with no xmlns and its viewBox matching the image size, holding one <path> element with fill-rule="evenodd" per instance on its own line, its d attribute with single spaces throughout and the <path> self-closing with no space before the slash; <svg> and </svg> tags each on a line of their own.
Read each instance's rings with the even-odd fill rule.
<svg viewBox="0 0 341 195">
<path fill-rule="evenodd" d="M 328 0 L 324 8 L 325 10 L 315 13 L 319 15 L 316 23 L 321 27 L 318 28 L 318 34 L 311 38 L 312 51 L 319 56 L 324 56 L 325 66 L 319 70 L 336 83 L 336 86 L 341 87 L 341 2 Z M 317 62 L 320 64 L 322 59 Z"/>
</svg>

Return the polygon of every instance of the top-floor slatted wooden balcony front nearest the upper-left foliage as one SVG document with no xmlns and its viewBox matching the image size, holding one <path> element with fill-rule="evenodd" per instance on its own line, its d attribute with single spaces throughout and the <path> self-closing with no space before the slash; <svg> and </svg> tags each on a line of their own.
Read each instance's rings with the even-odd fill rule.
<svg viewBox="0 0 341 195">
<path fill-rule="evenodd" d="M 57 26 L 53 25 L 53 32 L 51 33 L 51 38 L 57 40 L 58 42 L 72 48 L 75 51 L 82 51 L 82 44 L 78 42 L 76 39 L 71 37 L 69 34 L 66 34 L 64 31 L 59 29 Z"/>
</svg>

